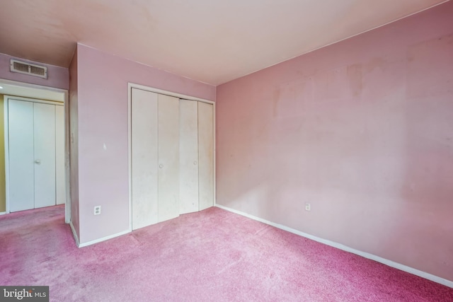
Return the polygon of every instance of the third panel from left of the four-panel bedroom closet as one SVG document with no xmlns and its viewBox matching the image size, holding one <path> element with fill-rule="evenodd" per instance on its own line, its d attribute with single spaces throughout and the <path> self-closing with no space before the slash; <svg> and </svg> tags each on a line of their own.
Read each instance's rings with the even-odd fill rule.
<svg viewBox="0 0 453 302">
<path fill-rule="evenodd" d="M 180 214 L 198 211 L 198 105 L 179 103 L 179 205 Z"/>
</svg>

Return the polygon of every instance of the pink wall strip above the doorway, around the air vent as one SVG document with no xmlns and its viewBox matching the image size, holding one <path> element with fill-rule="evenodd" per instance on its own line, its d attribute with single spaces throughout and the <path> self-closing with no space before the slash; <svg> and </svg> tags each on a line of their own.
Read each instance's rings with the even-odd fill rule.
<svg viewBox="0 0 453 302">
<path fill-rule="evenodd" d="M 10 59 L 18 59 L 20 61 L 38 64 L 47 67 L 47 79 L 42 79 L 37 76 L 28 76 L 10 71 Z M 69 71 L 67 68 L 42 64 L 21 58 L 11 57 L 8 54 L 0 54 L 0 79 L 18 81 L 23 83 L 48 86 L 53 88 L 68 89 L 69 88 Z"/>
</svg>

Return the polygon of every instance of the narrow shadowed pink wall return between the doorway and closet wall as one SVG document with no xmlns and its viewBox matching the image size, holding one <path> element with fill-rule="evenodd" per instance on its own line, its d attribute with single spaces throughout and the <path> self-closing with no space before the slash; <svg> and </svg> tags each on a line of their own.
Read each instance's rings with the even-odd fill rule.
<svg viewBox="0 0 453 302">
<path fill-rule="evenodd" d="M 69 65 L 69 156 L 71 161 L 71 223 L 77 238 L 80 238 L 79 228 L 79 120 L 78 120 L 78 70 L 77 50 L 74 52 Z"/>
</svg>

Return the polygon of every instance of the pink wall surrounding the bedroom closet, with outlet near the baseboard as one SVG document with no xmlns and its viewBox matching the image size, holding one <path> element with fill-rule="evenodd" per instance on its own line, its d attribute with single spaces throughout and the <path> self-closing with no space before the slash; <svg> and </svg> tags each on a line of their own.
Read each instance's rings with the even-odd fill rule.
<svg viewBox="0 0 453 302">
<path fill-rule="evenodd" d="M 77 64 L 79 239 L 86 243 L 129 228 L 127 83 L 207 100 L 215 87 L 84 45 Z M 93 215 L 96 205 L 101 215 Z"/>
</svg>

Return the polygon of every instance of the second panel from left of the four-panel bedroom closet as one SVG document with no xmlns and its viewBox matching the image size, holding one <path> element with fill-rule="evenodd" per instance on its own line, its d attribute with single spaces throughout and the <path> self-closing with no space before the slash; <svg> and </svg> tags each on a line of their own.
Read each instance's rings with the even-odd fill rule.
<svg viewBox="0 0 453 302">
<path fill-rule="evenodd" d="M 159 221 L 179 215 L 179 99 L 159 94 Z"/>
</svg>

